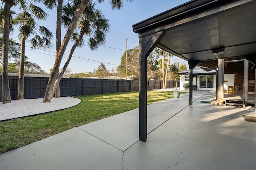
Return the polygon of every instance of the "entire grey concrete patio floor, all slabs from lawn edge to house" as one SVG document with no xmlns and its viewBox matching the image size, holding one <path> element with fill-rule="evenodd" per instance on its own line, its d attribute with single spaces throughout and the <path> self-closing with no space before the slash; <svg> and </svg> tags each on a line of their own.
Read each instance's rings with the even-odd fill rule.
<svg viewBox="0 0 256 170">
<path fill-rule="evenodd" d="M 148 105 L 148 138 L 138 141 L 138 109 L 0 154 L 1 170 L 255 170 L 254 115 L 209 101 L 215 91 Z"/>
</svg>

